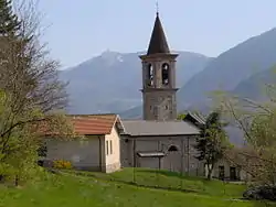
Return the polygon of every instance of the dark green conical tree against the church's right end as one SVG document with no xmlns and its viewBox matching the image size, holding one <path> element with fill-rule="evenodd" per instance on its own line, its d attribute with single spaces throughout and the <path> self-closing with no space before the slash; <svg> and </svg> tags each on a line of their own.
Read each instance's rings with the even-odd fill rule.
<svg viewBox="0 0 276 207">
<path fill-rule="evenodd" d="M 219 111 L 211 112 L 201 130 L 201 137 L 197 140 L 195 149 L 199 161 L 204 161 L 208 168 L 208 179 L 211 179 L 215 163 L 223 157 L 225 150 L 229 148 L 229 140 L 221 121 Z"/>
</svg>

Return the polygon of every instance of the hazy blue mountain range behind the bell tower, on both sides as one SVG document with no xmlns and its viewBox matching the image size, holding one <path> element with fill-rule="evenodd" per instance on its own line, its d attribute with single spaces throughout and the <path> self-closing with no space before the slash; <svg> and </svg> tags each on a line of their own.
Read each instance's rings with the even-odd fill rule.
<svg viewBox="0 0 276 207">
<path fill-rule="evenodd" d="M 70 81 L 70 113 L 116 112 L 125 119 L 141 118 L 141 62 L 139 53 L 106 51 L 60 73 Z M 177 62 L 178 110 L 210 109 L 209 92 L 226 90 L 264 100 L 262 86 L 276 83 L 276 29 L 253 36 L 217 57 L 181 52 Z M 241 133 L 234 133 L 235 140 Z"/>
</svg>

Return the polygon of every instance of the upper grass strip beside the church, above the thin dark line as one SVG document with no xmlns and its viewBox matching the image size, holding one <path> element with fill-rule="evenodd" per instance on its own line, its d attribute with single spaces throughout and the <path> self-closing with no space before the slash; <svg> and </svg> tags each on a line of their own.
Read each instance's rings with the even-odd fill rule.
<svg viewBox="0 0 276 207">
<path fill-rule="evenodd" d="M 168 171 L 155 171 L 147 168 L 125 168 L 113 174 L 83 173 L 96 178 L 117 181 L 120 183 L 136 183 L 145 187 L 156 187 L 171 190 L 182 190 L 210 196 L 223 196 L 241 198 L 245 189 L 244 185 L 227 184 L 221 181 L 208 182 L 204 177 L 182 176 Z"/>
</svg>

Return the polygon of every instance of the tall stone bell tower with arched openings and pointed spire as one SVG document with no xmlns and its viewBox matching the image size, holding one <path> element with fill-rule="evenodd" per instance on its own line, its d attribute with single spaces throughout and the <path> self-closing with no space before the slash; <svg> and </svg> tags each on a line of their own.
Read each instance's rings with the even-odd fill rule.
<svg viewBox="0 0 276 207">
<path fill-rule="evenodd" d="M 148 52 L 140 56 L 145 120 L 166 121 L 177 119 L 177 57 L 178 54 L 170 53 L 157 12 Z"/>
</svg>

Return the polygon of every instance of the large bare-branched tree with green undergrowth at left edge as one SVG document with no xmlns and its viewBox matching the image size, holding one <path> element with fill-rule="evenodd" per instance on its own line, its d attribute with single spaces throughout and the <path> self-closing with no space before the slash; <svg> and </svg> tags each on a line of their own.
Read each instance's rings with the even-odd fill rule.
<svg viewBox="0 0 276 207">
<path fill-rule="evenodd" d="M 33 175 L 42 126 L 61 138 L 73 134 L 62 112 L 67 96 L 59 63 L 40 44 L 35 8 L 24 3 L 15 8 L 18 34 L 0 36 L 0 177 L 14 178 L 15 185 Z"/>
</svg>

